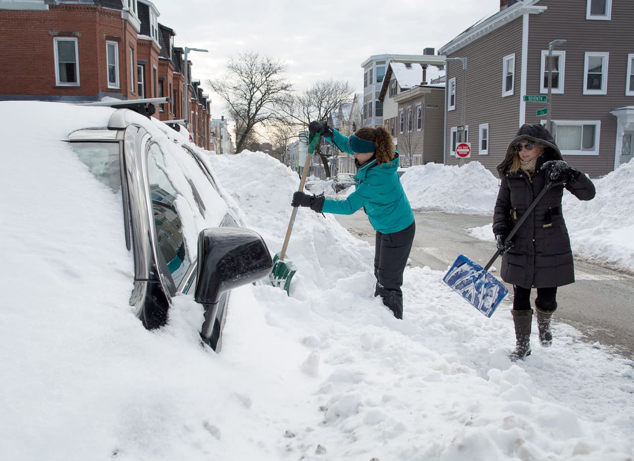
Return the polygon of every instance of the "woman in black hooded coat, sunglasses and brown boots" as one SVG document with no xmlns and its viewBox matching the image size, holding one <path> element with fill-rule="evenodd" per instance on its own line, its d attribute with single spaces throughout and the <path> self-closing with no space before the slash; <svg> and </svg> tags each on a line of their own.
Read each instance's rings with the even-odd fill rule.
<svg viewBox="0 0 634 461">
<path fill-rule="evenodd" d="M 509 358 L 524 359 L 531 354 L 533 321 L 531 289 L 537 290 L 535 311 L 540 344 L 552 344 L 550 318 L 557 309 L 557 287 L 574 282 L 573 253 L 561 199 L 566 188 L 579 200 L 592 200 L 595 187 L 585 174 L 562 160 L 555 140 L 545 127 L 524 124 L 498 165 L 500 192 L 495 203 L 493 233 L 501 250 L 501 277 L 513 284 L 515 351 Z M 547 182 L 554 186 L 541 198 L 510 242 L 508 234 Z"/>
</svg>

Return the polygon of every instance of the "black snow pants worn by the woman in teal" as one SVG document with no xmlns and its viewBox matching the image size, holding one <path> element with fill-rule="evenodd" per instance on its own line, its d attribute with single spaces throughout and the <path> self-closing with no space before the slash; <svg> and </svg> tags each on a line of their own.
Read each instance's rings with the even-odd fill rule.
<svg viewBox="0 0 634 461">
<path fill-rule="evenodd" d="M 410 257 L 411 244 L 414 242 L 416 224 L 402 231 L 384 234 L 377 231 L 376 252 L 374 254 L 374 275 L 377 285 L 375 296 L 383 299 L 396 318 L 403 318 L 403 271 Z"/>
</svg>

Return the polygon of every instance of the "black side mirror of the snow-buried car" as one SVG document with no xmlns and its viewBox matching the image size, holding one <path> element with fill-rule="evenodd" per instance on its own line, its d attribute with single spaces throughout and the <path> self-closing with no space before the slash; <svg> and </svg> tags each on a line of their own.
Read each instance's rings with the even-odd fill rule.
<svg viewBox="0 0 634 461">
<path fill-rule="evenodd" d="M 273 259 L 262 237 L 252 230 L 208 228 L 198 234 L 195 300 L 216 304 L 223 292 L 271 273 Z"/>
</svg>

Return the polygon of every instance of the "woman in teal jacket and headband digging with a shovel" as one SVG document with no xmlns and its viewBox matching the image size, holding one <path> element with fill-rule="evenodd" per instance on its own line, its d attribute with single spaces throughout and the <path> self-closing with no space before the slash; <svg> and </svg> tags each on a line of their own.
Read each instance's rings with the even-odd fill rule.
<svg viewBox="0 0 634 461">
<path fill-rule="evenodd" d="M 410 256 L 416 226 L 411 205 L 396 172 L 398 152 L 392 136 L 382 126 L 363 127 L 349 138 L 326 122 L 311 122 L 311 137 L 321 133 L 340 151 L 354 155 L 357 167 L 354 176 L 356 190 L 346 200 L 330 200 L 323 194 L 314 196 L 302 192 L 293 194 L 294 207 L 310 207 L 316 212 L 353 214 L 363 207 L 376 235 L 374 275 L 377 278 L 374 295 L 383 299 L 396 318 L 403 318 L 403 271 Z"/>
</svg>

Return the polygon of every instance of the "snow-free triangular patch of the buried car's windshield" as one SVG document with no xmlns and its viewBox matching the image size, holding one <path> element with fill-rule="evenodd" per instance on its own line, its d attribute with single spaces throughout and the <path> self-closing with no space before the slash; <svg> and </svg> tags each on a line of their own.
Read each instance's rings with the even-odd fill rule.
<svg viewBox="0 0 634 461">
<path fill-rule="evenodd" d="M 119 192 L 121 169 L 118 142 L 70 143 L 70 147 L 100 183 L 111 188 L 113 192 Z"/>
</svg>

